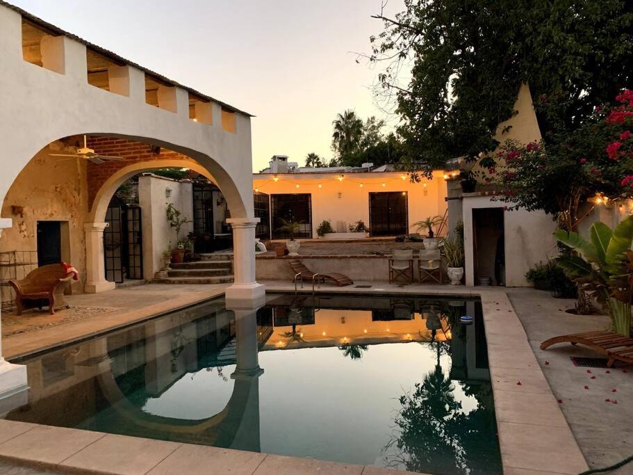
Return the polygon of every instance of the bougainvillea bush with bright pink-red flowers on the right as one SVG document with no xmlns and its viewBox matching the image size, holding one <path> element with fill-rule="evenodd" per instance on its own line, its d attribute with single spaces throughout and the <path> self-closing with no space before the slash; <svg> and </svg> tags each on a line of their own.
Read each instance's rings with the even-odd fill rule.
<svg viewBox="0 0 633 475">
<path fill-rule="evenodd" d="M 489 171 L 503 190 L 501 200 L 541 209 L 573 230 L 589 198 L 633 197 L 632 133 L 633 91 L 624 90 L 614 105 L 596 106 L 575 131 L 547 131 L 547 140 L 527 145 L 508 141 L 495 157 L 505 166 Z"/>
</svg>

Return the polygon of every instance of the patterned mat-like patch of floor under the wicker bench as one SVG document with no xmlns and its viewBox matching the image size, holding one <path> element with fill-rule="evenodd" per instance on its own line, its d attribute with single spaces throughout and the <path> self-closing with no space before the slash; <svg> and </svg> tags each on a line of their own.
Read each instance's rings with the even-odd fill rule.
<svg viewBox="0 0 633 475">
<path fill-rule="evenodd" d="M 46 310 L 26 310 L 22 315 L 13 313 L 2 314 L 2 337 L 20 335 L 22 333 L 37 332 L 46 328 L 65 325 L 91 316 L 97 316 L 118 310 L 116 307 L 83 307 L 73 306 L 69 309 L 57 310 L 53 315 L 49 315 Z"/>
</svg>

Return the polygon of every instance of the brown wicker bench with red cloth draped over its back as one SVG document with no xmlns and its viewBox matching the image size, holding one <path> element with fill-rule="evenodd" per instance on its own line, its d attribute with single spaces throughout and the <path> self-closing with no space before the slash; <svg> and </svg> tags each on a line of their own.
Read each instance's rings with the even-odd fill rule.
<svg viewBox="0 0 633 475">
<path fill-rule="evenodd" d="M 60 308 L 69 308 L 64 300 L 64 289 L 73 278 L 62 264 L 49 264 L 29 272 L 24 279 L 10 280 L 15 290 L 15 307 L 21 315 L 26 308 L 49 306 L 49 313 L 54 314 Z"/>
</svg>

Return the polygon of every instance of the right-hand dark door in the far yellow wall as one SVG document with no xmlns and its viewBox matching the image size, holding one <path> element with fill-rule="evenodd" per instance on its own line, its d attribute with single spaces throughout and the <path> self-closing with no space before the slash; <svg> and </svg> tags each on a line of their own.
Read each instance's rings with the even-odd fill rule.
<svg viewBox="0 0 633 475">
<path fill-rule="evenodd" d="M 404 191 L 369 194 L 369 229 L 372 236 L 398 236 L 409 232 L 409 210 Z"/>
</svg>

